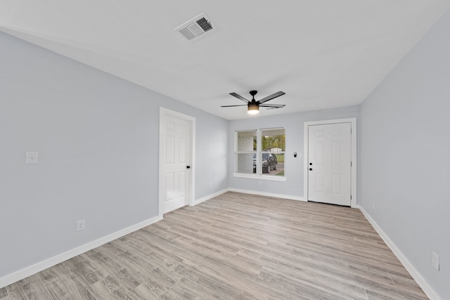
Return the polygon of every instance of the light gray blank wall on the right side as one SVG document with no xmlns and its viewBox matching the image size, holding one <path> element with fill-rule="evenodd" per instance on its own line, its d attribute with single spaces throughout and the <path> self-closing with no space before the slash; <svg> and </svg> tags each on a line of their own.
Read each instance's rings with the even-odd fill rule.
<svg viewBox="0 0 450 300">
<path fill-rule="evenodd" d="M 442 299 L 450 299 L 449 32 L 450 12 L 364 101 L 360 140 L 361 206 Z"/>
</svg>

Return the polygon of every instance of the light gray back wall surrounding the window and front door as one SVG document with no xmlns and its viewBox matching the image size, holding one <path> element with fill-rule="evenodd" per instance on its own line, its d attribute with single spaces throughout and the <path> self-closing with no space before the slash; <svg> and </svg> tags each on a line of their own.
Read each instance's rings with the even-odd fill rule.
<svg viewBox="0 0 450 300">
<path fill-rule="evenodd" d="M 288 91 L 286 91 L 288 93 Z M 301 100 L 301 99 L 299 99 Z M 288 110 L 286 106 L 283 110 Z M 229 122 L 229 187 L 239 190 L 257 191 L 281 196 L 304 197 L 303 189 L 303 157 L 294 158 L 294 152 L 303 153 L 304 122 L 327 119 L 346 119 L 356 117 L 359 125 L 359 105 L 340 107 L 333 110 L 314 110 L 311 112 L 295 112 L 271 117 L 254 117 Z M 284 127 L 286 130 L 285 176 L 286 181 L 266 181 L 259 185 L 259 178 L 234 177 L 235 163 L 235 131 L 249 129 L 268 129 Z"/>
</svg>

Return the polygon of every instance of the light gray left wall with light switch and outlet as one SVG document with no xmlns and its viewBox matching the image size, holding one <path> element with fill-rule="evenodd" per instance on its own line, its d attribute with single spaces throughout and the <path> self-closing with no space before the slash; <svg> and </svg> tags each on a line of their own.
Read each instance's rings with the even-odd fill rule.
<svg viewBox="0 0 450 300">
<path fill-rule="evenodd" d="M 196 117 L 195 199 L 228 187 L 226 120 L 1 32 L 0 45 L 0 278 L 158 215 L 160 106 Z"/>
</svg>

